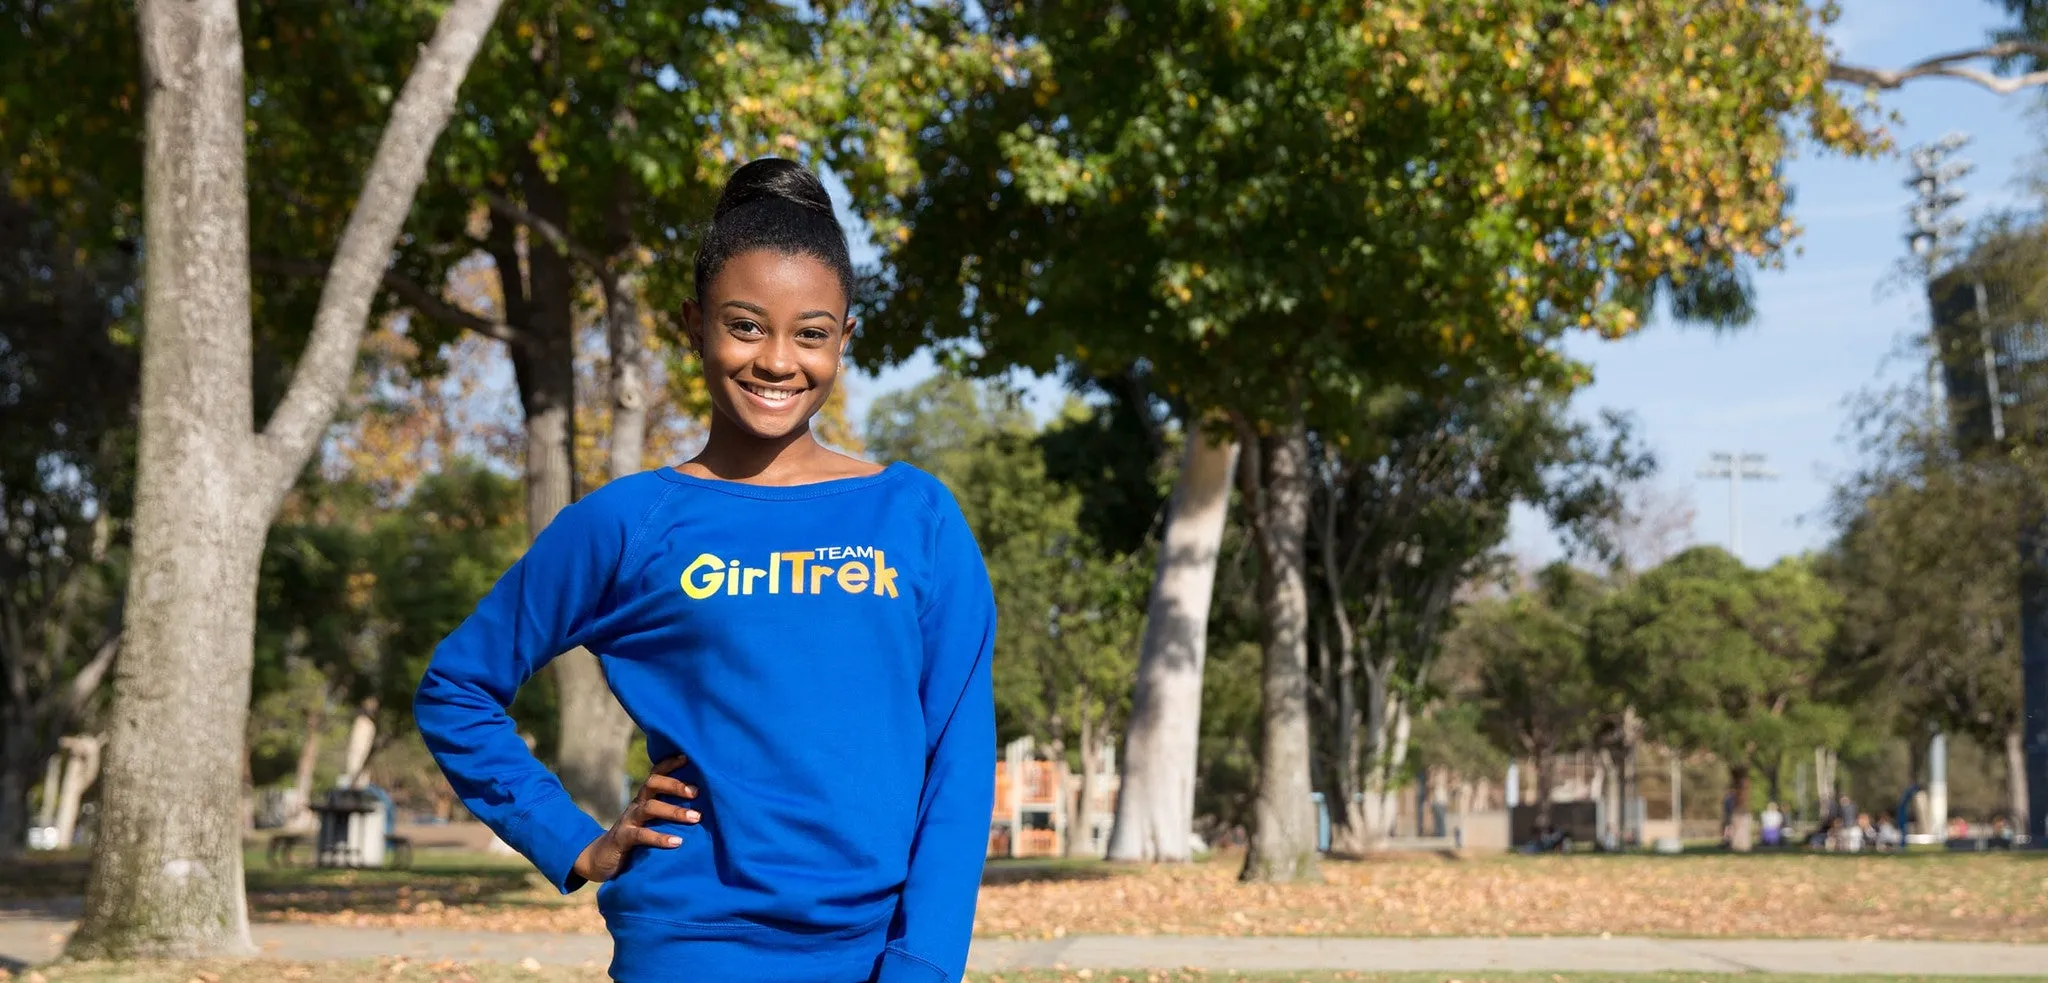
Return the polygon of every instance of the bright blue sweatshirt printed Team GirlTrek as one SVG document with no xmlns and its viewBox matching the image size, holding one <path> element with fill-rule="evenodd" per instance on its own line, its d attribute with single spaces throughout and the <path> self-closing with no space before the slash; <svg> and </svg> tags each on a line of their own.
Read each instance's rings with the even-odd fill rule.
<svg viewBox="0 0 2048 983">
<path fill-rule="evenodd" d="M 604 834 L 506 717 L 598 655 L 682 803 L 598 887 L 612 977 L 946 983 L 993 807 L 995 600 L 946 487 L 909 465 L 764 487 L 647 471 L 563 510 L 440 647 L 414 713 L 463 805 L 563 893 Z"/>
</svg>

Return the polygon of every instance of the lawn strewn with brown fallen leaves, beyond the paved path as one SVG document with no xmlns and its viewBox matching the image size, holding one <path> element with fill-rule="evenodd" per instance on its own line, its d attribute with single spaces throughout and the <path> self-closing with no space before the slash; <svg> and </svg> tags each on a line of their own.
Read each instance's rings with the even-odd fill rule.
<svg viewBox="0 0 2048 983">
<path fill-rule="evenodd" d="M 1239 885 L 1237 860 L 1159 868 L 993 862 L 977 932 L 2048 942 L 2048 854 L 2040 852 L 1391 856 L 1325 862 L 1319 885 Z M 74 897 L 82 885 L 82 856 L 0 866 L 0 901 Z M 248 885 L 252 917 L 268 922 L 604 930 L 594 891 L 559 897 L 502 854 L 422 852 L 414 870 L 274 870 L 252 852 Z"/>
</svg>

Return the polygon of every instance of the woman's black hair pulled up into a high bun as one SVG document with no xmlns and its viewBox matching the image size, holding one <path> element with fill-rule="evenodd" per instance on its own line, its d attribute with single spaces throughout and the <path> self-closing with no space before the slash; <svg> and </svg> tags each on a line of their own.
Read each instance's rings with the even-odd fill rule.
<svg viewBox="0 0 2048 983">
<path fill-rule="evenodd" d="M 750 250 L 811 256 L 831 266 L 846 301 L 854 299 L 854 258 L 846 250 L 846 229 L 831 213 L 825 182 L 795 160 L 760 158 L 725 180 L 711 227 L 696 248 L 696 299 L 705 299 L 705 285 L 727 260 Z"/>
</svg>

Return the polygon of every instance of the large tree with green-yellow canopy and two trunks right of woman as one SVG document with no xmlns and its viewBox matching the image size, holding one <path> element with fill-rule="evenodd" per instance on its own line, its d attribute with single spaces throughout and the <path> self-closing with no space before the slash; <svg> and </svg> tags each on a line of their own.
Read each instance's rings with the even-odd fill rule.
<svg viewBox="0 0 2048 983">
<path fill-rule="evenodd" d="M 1452 387 L 1475 367 L 1567 379 L 1561 332 L 1626 334 L 1657 285 L 1778 254 L 1790 139 L 1855 149 L 1866 133 L 1823 86 L 1817 14 L 1794 2 L 1034 2 L 987 10 L 985 31 L 1028 55 L 918 135 L 868 352 L 971 342 L 961 358 L 991 373 L 1143 365 L 1190 432 L 1221 416 L 1257 440 L 1272 821 L 1247 877 L 1311 877 L 1307 434 L 1366 393 Z M 1167 563 L 1212 543 L 1190 537 Z M 1157 582 L 1147 631 L 1200 610 L 1176 594 L 1198 584 Z M 1196 645 L 1147 643 L 1141 678 L 1198 672 Z M 1192 721 L 1149 704 L 1192 692 L 1147 686 L 1135 721 Z M 1161 829 L 1192 793 L 1137 778 L 1188 770 L 1130 754 L 1118 813 Z"/>
</svg>

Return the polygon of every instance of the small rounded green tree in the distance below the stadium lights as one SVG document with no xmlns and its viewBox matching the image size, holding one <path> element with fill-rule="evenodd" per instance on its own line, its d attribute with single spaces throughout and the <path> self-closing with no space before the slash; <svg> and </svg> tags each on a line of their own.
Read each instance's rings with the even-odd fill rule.
<svg viewBox="0 0 2048 983">
<path fill-rule="evenodd" d="M 1747 569 L 1716 547 L 1671 557 L 1593 614 L 1593 670 L 1653 733 L 1710 752 L 1735 782 L 1731 844 L 1749 850 L 1749 788 L 1792 754 L 1831 745 L 1847 715 L 1823 698 L 1839 598 L 1804 559 Z"/>
</svg>

